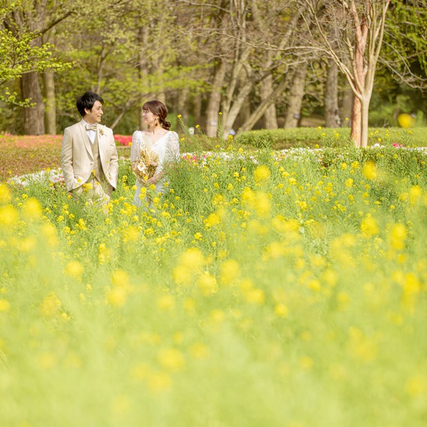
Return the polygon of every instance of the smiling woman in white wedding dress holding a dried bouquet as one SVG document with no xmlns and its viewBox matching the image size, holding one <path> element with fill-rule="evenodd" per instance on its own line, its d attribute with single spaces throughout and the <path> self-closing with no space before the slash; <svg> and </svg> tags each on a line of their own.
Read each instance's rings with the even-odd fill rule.
<svg viewBox="0 0 427 427">
<path fill-rule="evenodd" d="M 147 125 L 147 129 L 137 130 L 132 135 L 132 147 L 130 160 L 132 162 L 132 170 L 136 170 L 136 165 L 140 157 L 142 148 L 147 150 L 151 156 L 158 156 L 158 166 L 154 175 L 148 180 L 136 178 L 134 205 L 145 206 L 145 200 L 141 200 L 140 191 L 142 187 L 156 185 L 156 191 L 163 193 L 165 190 L 165 172 L 163 167 L 165 163 L 177 160 L 179 158 L 179 138 L 176 132 L 169 130 L 171 124 L 166 121 L 167 107 L 160 101 L 147 101 L 143 105 L 143 123 Z M 147 200 L 149 201 L 149 200 Z"/>
</svg>

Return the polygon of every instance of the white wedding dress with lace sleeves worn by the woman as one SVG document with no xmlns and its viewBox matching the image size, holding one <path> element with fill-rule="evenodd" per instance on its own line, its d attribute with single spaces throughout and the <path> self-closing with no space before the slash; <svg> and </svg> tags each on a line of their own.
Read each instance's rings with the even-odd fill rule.
<svg viewBox="0 0 427 427">
<path fill-rule="evenodd" d="M 168 131 L 167 134 L 161 136 L 155 143 L 149 140 L 149 137 L 140 130 L 137 130 L 132 135 L 132 147 L 130 152 L 131 162 L 137 162 L 141 148 L 147 149 L 151 154 L 158 156 L 158 167 L 154 174 L 159 174 L 163 171 L 163 165 L 167 162 L 177 160 L 179 158 L 179 138 L 178 134 L 173 131 Z M 156 191 L 163 193 L 165 191 L 165 177 L 158 180 L 156 183 Z M 143 205 L 143 200 L 140 200 L 140 189 L 143 183 L 137 178 L 135 180 L 136 190 L 134 195 L 134 205 Z"/>
</svg>

